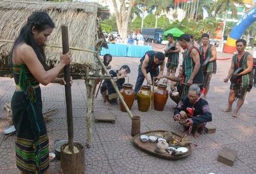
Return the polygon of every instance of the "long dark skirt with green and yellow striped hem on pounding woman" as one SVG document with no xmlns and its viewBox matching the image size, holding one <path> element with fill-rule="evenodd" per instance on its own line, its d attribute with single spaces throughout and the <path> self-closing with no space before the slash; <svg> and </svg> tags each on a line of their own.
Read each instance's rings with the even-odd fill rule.
<svg viewBox="0 0 256 174">
<path fill-rule="evenodd" d="M 12 97 L 12 120 L 17 131 L 16 165 L 28 173 L 43 173 L 49 168 L 49 139 L 42 116 L 40 87 L 35 93 L 35 103 L 21 91 L 15 91 Z"/>
</svg>

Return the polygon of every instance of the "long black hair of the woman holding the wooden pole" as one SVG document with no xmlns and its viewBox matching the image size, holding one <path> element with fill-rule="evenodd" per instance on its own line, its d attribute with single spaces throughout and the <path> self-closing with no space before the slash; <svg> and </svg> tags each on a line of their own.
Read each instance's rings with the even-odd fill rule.
<svg viewBox="0 0 256 174">
<path fill-rule="evenodd" d="M 12 65 L 13 53 L 17 49 L 18 46 L 22 43 L 26 43 L 30 45 L 38 58 L 41 64 L 44 66 L 45 70 L 48 70 L 49 67 L 46 65 L 46 55 L 44 52 L 44 45 L 37 45 L 35 40 L 33 39 L 32 28 L 38 32 L 45 31 L 48 28 L 55 28 L 55 24 L 52 21 L 51 17 L 44 11 L 34 12 L 32 15 L 28 17 L 28 21 L 25 26 L 22 27 L 18 37 L 16 38 L 14 45 L 12 47 L 12 51 L 10 54 L 9 64 Z"/>
</svg>

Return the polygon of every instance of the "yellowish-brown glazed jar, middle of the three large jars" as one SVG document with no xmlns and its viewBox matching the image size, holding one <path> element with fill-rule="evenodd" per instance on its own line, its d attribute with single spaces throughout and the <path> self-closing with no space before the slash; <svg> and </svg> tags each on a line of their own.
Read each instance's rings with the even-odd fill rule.
<svg viewBox="0 0 256 174">
<path fill-rule="evenodd" d="M 150 108 L 152 98 L 153 93 L 151 92 L 151 87 L 142 85 L 141 89 L 137 93 L 139 111 L 147 112 L 148 108 Z"/>
</svg>

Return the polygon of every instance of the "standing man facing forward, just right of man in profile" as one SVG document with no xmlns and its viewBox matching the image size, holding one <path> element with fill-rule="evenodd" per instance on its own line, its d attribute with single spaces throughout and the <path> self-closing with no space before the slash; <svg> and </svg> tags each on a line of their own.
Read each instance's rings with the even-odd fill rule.
<svg viewBox="0 0 256 174">
<path fill-rule="evenodd" d="M 203 55 L 203 62 L 210 57 L 208 63 L 203 67 L 204 81 L 203 81 L 203 90 L 201 96 L 206 97 L 206 94 L 210 88 L 210 80 L 212 74 L 216 73 L 216 47 L 209 43 L 209 35 L 204 33 L 202 34 L 202 43 L 203 45 L 199 47 L 201 54 Z"/>
</svg>

